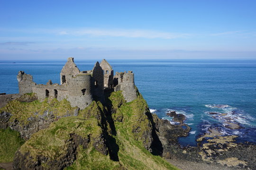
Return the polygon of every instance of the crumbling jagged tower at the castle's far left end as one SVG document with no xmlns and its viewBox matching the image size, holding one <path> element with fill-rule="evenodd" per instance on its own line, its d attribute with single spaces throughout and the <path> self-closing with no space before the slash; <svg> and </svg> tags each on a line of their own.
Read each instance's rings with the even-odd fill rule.
<svg viewBox="0 0 256 170">
<path fill-rule="evenodd" d="M 32 93 L 33 76 L 19 71 L 17 75 L 19 94 Z"/>
</svg>

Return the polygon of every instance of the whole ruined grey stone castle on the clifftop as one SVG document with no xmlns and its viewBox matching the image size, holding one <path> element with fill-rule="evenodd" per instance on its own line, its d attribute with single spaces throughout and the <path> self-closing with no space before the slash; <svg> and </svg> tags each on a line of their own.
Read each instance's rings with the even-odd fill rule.
<svg viewBox="0 0 256 170">
<path fill-rule="evenodd" d="M 88 71 L 80 71 L 75 65 L 73 58 L 68 58 L 61 70 L 61 84 L 53 84 L 49 80 L 46 85 L 36 84 L 33 77 L 18 72 L 19 94 L 37 93 L 38 100 L 56 98 L 58 101 L 66 99 L 72 107 L 86 108 L 93 100 L 105 102 L 104 93 L 107 91 L 122 91 L 127 102 L 136 99 L 136 87 L 132 71 L 116 72 L 110 64 L 103 59 L 98 61 Z M 6 94 L 7 95 L 7 94 Z"/>
</svg>

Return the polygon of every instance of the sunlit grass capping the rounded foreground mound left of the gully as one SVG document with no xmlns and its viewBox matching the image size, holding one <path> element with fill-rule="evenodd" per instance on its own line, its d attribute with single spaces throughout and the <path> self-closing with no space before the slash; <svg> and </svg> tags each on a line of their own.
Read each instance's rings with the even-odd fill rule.
<svg viewBox="0 0 256 170">
<path fill-rule="evenodd" d="M 37 155 L 46 156 L 49 160 L 58 160 L 67 154 L 67 141 L 70 134 L 81 137 L 91 135 L 97 138 L 101 135 L 101 127 L 96 119 L 84 119 L 79 117 L 65 117 L 53 122 L 48 128 L 33 134 L 25 144 L 20 147 L 20 152 L 30 152 L 34 159 Z"/>
</svg>

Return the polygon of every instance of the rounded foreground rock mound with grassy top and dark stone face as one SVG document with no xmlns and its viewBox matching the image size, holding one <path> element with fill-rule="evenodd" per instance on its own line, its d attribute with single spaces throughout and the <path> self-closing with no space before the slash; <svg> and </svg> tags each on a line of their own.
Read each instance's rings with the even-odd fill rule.
<svg viewBox="0 0 256 170">
<path fill-rule="evenodd" d="M 17 152 L 14 167 L 62 170 L 76 159 L 77 148 L 107 155 L 105 139 L 97 119 L 66 117 L 31 136 Z"/>
</svg>

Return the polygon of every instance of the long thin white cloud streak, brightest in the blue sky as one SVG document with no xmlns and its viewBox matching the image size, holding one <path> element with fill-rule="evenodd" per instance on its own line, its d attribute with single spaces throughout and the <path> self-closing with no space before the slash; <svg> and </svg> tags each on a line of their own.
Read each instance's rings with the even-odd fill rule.
<svg viewBox="0 0 256 170">
<path fill-rule="evenodd" d="M 174 39 L 174 38 L 185 38 L 190 34 L 183 33 L 169 33 L 169 32 L 158 32 L 150 30 L 125 30 L 125 29 L 79 29 L 79 30 L 66 30 L 60 31 L 58 34 L 64 35 L 91 35 L 91 36 L 112 36 L 112 37 L 128 37 L 128 38 L 161 38 L 161 39 Z"/>
</svg>

